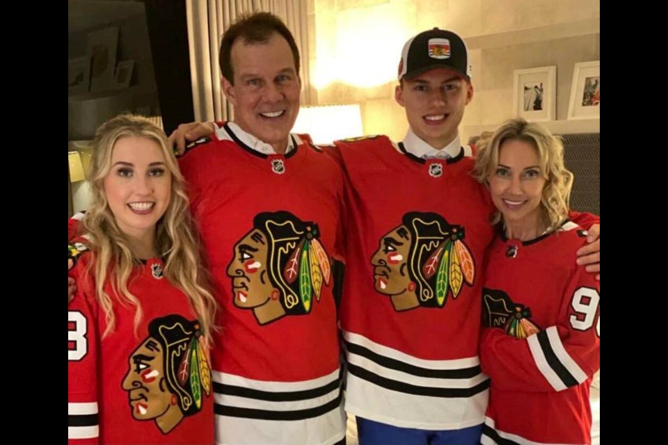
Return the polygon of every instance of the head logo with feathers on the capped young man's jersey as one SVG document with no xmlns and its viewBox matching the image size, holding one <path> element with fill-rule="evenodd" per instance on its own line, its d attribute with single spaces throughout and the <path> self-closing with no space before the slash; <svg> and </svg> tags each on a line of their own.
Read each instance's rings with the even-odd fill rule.
<svg viewBox="0 0 668 445">
<path fill-rule="evenodd" d="M 376 291 L 391 297 L 397 311 L 443 307 L 472 286 L 475 263 L 463 243 L 464 228 L 436 213 L 411 212 L 381 238 L 371 259 Z"/>
</svg>

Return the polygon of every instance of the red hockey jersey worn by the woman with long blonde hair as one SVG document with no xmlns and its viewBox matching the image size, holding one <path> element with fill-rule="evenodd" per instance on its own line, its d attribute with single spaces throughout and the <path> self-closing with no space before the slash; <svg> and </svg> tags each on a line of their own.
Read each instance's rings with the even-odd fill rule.
<svg viewBox="0 0 668 445">
<path fill-rule="evenodd" d="M 70 245 L 77 295 L 67 308 L 67 436 L 70 444 L 213 444 L 214 396 L 208 351 L 186 296 L 163 277 L 162 261 L 137 266 L 134 307 L 113 302 L 116 327 L 103 337 L 83 243 Z M 85 253 L 82 253 L 85 252 Z M 111 285 L 106 292 L 116 299 Z"/>
</svg>

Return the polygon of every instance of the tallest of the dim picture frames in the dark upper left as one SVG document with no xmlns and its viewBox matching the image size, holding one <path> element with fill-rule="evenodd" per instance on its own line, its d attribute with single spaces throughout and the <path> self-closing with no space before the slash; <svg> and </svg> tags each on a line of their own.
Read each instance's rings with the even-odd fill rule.
<svg viewBox="0 0 668 445">
<path fill-rule="evenodd" d="M 90 60 L 90 91 L 106 91 L 113 86 L 118 49 L 118 28 L 101 29 L 88 34 L 86 57 Z"/>
</svg>

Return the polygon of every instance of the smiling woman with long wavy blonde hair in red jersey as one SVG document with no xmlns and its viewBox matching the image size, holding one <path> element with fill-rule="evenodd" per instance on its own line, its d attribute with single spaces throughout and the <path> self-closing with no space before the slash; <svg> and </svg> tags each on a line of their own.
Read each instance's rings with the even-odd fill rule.
<svg viewBox="0 0 668 445">
<path fill-rule="evenodd" d="M 207 290 L 167 139 L 122 115 L 97 131 L 93 203 L 70 244 L 70 444 L 212 444 Z"/>
</svg>

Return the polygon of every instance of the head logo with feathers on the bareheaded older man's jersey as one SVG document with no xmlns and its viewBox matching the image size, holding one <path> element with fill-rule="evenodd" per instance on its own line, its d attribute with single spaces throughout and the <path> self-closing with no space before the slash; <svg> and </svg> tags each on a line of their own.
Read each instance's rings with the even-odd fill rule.
<svg viewBox="0 0 668 445">
<path fill-rule="evenodd" d="M 329 286 L 331 265 L 315 223 L 287 211 L 260 213 L 234 245 L 228 266 L 234 305 L 253 309 L 261 325 L 311 312 Z"/>
</svg>

